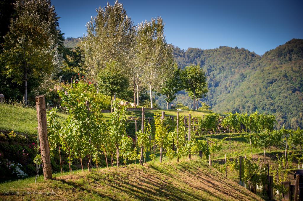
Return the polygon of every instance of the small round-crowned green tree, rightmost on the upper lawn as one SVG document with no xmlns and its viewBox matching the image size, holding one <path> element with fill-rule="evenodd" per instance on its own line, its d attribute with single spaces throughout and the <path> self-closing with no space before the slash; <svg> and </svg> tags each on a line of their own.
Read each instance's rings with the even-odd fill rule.
<svg viewBox="0 0 303 201">
<path fill-rule="evenodd" d="M 181 78 L 186 91 L 194 99 L 195 110 L 196 94 L 201 97 L 208 92 L 205 72 L 200 65 L 189 65 L 182 71 Z"/>
</svg>

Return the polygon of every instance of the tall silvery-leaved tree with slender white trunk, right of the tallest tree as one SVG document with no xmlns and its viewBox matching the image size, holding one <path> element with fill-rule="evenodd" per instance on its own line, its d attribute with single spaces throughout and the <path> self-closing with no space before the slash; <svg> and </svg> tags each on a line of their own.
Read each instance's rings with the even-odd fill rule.
<svg viewBox="0 0 303 201">
<path fill-rule="evenodd" d="M 137 32 L 136 58 L 149 87 L 150 105 L 153 108 L 152 91 L 157 91 L 162 81 L 173 72 L 172 48 L 165 41 L 164 23 L 160 17 L 141 22 Z"/>
</svg>

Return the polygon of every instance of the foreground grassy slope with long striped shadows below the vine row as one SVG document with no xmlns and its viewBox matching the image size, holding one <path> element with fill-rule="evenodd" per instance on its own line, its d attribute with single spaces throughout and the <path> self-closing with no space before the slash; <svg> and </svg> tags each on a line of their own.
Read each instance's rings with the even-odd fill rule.
<svg viewBox="0 0 303 201">
<path fill-rule="evenodd" d="M 11 190 L 53 191 L 55 195 L 5 195 Z M 92 173 L 78 172 L 38 184 L 3 183 L 0 191 L 3 200 L 261 200 L 197 158 L 94 169 Z"/>
</svg>

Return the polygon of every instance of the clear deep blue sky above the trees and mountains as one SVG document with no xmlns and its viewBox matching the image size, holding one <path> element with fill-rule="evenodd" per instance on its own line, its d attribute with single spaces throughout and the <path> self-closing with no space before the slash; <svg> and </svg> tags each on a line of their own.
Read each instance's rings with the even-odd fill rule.
<svg viewBox="0 0 303 201">
<path fill-rule="evenodd" d="M 119 2 L 134 24 L 161 16 L 165 21 L 166 41 L 181 49 L 238 46 L 261 55 L 292 38 L 303 38 L 303 1 Z M 96 15 L 95 9 L 105 7 L 106 3 L 103 0 L 52 1 L 65 37 L 83 36 L 86 23 Z"/>
</svg>

